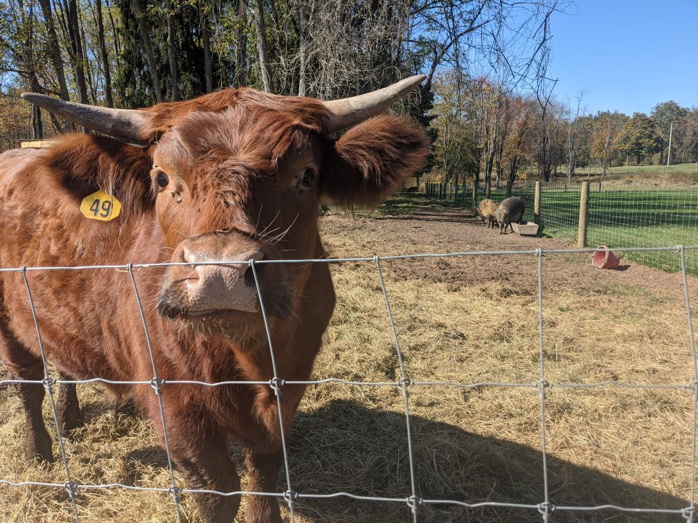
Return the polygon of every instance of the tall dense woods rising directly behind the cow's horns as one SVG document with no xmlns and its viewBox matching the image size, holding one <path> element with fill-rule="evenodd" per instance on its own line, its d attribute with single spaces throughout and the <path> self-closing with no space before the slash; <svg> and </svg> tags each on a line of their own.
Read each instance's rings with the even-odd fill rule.
<svg viewBox="0 0 698 523">
<path fill-rule="evenodd" d="M 136 108 L 228 86 L 337 98 L 424 73 L 397 110 L 429 126 L 438 70 L 505 63 L 530 83 L 568 3 L 0 0 L 0 149 L 73 130 L 22 91 Z"/>
</svg>

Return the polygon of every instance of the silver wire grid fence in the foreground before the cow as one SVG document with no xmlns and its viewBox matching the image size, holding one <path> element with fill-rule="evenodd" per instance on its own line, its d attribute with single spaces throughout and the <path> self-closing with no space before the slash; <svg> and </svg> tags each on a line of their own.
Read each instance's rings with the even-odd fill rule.
<svg viewBox="0 0 698 523">
<path fill-rule="evenodd" d="M 697 416 L 698 416 L 698 360 L 697 360 L 697 349 L 695 343 L 695 333 L 693 329 L 693 319 L 692 319 L 692 309 L 690 303 L 690 294 L 688 289 L 688 278 L 687 278 L 687 254 L 695 254 L 698 252 L 698 245 L 684 246 L 677 245 L 676 247 L 652 247 L 652 248 L 622 248 L 621 249 L 626 255 L 632 253 L 650 253 L 650 252 L 664 252 L 667 255 L 673 255 L 678 259 L 678 264 L 681 271 L 681 282 L 683 285 L 683 297 L 685 301 L 685 314 L 687 320 L 687 333 L 688 340 L 687 346 L 690 351 L 692 367 L 692 381 L 685 384 L 662 384 L 662 383 L 649 383 L 649 384 L 633 384 L 625 383 L 622 381 L 601 381 L 598 383 L 564 383 L 564 382 L 551 382 L 547 380 L 546 377 L 546 356 L 545 356 L 545 345 L 546 337 L 544 335 L 544 314 L 543 314 L 543 297 L 542 297 L 542 285 L 543 285 L 543 270 L 542 270 L 542 260 L 545 256 L 549 255 L 565 255 L 565 254 L 579 254 L 593 252 L 593 249 L 535 249 L 535 250 L 501 250 L 501 251 L 478 251 L 478 252 L 452 252 L 452 253 L 427 253 L 427 254 L 417 254 L 417 255 L 401 255 L 401 256 L 385 256 L 379 257 L 375 255 L 373 257 L 355 257 L 355 258 L 338 258 L 338 259 L 303 259 L 303 260 L 259 260 L 255 261 L 251 259 L 248 262 L 209 262 L 210 265 L 218 264 L 234 264 L 234 263 L 244 263 L 249 264 L 251 268 L 251 273 L 253 275 L 253 280 L 255 283 L 256 290 L 258 292 L 260 301 L 260 311 L 262 319 L 265 325 L 265 331 L 267 335 L 267 343 L 269 345 L 269 354 L 271 356 L 273 375 L 269 377 L 268 381 L 220 381 L 209 383 L 205 381 L 193 381 L 193 380 L 176 380 L 163 378 L 161 374 L 158 374 L 158 369 L 156 368 L 156 358 L 155 353 L 158 347 L 154 347 L 151 344 L 151 336 L 149 333 L 149 326 L 147 324 L 146 315 L 144 314 L 143 303 L 141 296 L 139 294 L 138 285 L 134 278 L 134 270 L 140 268 L 149 268 L 155 266 L 174 266 L 174 265 L 200 265 L 193 263 L 168 263 L 168 264 L 126 264 L 126 265 L 110 265 L 110 266 L 56 266 L 56 267 L 20 267 L 20 268 L 0 268 L 0 272 L 3 273 L 19 273 L 22 276 L 24 287 L 27 291 L 27 300 L 31 308 L 31 314 L 34 319 L 34 326 L 36 328 L 36 337 L 38 340 L 38 347 L 40 349 L 41 359 L 43 361 L 43 379 L 36 380 L 24 380 L 24 379 L 4 379 L 0 381 L 0 386 L 8 384 L 35 384 L 36 386 L 43 386 L 50 400 L 50 406 L 52 409 L 53 419 L 56 427 L 58 443 L 60 448 L 61 460 L 65 469 L 65 483 L 48 483 L 41 481 L 11 481 L 8 479 L 0 478 L 1 485 L 10 485 L 14 487 L 24 487 L 24 486 L 40 486 L 40 487 L 53 487 L 56 489 L 65 490 L 72 504 L 73 512 L 75 515 L 75 521 L 80 522 L 80 510 L 79 503 L 80 500 L 77 497 L 77 493 L 84 490 L 99 490 L 99 489 L 114 489 L 121 488 L 126 490 L 134 491 L 149 491 L 149 492 L 165 492 L 170 494 L 172 497 L 172 515 L 181 521 L 181 494 L 215 494 L 222 497 L 239 496 L 239 495 L 251 495 L 251 496 L 262 496 L 262 497 L 274 497 L 277 498 L 286 506 L 288 506 L 288 511 L 290 514 L 290 520 L 295 521 L 295 504 L 301 499 L 332 499 L 332 498 L 346 498 L 356 501 L 378 501 L 383 503 L 395 503 L 397 505 L 407 506 L 412 515 L 411 519 L 413 522 L 417 522 L 420 519 L 420 507 L 422 506 L 452 506 L 452 507 L 463 507 L 468 509 L 475 508 L 506 508 L 510 510 L 521 510 L 528 511 L 529 513 L 539 513 L 540 517 L 544 522 L 551 521 L 551 517 L 554 513 L 597 513 L 600 511 L 614 510 L 617 513 L 636 513 L 636 514 L 646 514 L 646 515 L 676 515 L 678 517 L 683 517 L 687 521 L 695 521 L 697 516 L 697 506 L 695 504 L 695 473 L 696 473 L 696 437 L 697 437 Z M 533 257 L 536 262 L 537 268 L 537 345 L 538 345 L 538 360 L 540 364 L 540 374 L 538 379 L 532 383 L 495 383 L 495 382 L 478 382 L 478 383 L 460 383 L 454 381 L 413 381 L 408 376 L 403 358 L 403 351 L 400 346 L 399 336 L 397 334 L 396 322 L 391 308 L 391 299 L 383 278 L 382 263 L 388 260 L 396 259 L 426 259 L 426 258 L 450 258 L 450 257 L 491 257 L 491 256 L 521 256 L 528 255 Z M 339 378 L 327 378 L 327 379 L 317 379 L 317 380 L 304 380 L 304 381 L 294 381 L 288 380 L 279 373 L 276 367 L 276 357 L 274 354 L 274 344 L 272 342 L 272 330 L 269 326 L 269 321 L 267 318 L 267 310 L 264 305 L 264 296 L 262 296 L 262 291 L 260 289 L 260 282 L 258 279 L 258 269 L 257 267 L 262 264 L 309 264 L 309 263 L 319 263 L 319 264 L 337 264 L 342 262 L 357 262 L 371 264 L 375 267 L 376 273 L 378 275 L 378 281 L 380 282 L 380 291 L 383 294 L 383 300 L 385 302 L 385 312 L 387 316 L 387 321 L 391 329 L 392 338 L 394 342 L 394 350 L 399 362 L 400 377 L 396 381 L 384 381 L 384 382 L 369 382 L 369 381 L 350 381 L 346 379 Z M 68 380 L 68 379 L 54 379 L 50 375 L 49 363 L 44 350 L 43 337 L 38 321 L 38 311 L 34 305 L 34 298 L 32 296 L 30 277 L 29 275 L 35 271 L 127 271 L 131 279 L 131 284 L 133 287 L 133 294 L 136 303 L 138 303 L 138 310 L 140 314 L 140 319 L 142 320 L 142 327 L 146 340 L 146 347 L 144 351 L 147 351 L 149 360 L 152 367 L 152 379 L 149 381 L 111 381 L 107 379 L 102 379 L 95 377 L 92 379 L 79 379 L 79 380 Z M 57 384 L 92 384 L 92 383 L 102 383 L 102 384 L 112 384 L 112 385 L 149 385 L 151 386 L 154 395 L 156 395 L 158 404 L 160 407 L 160 421 L 163 427 L 164 435 L 164 446 L 165 453 L 167 453 L 168 458 L 168 469 L 170 484 L 163 485 L 162 487 L 140 487 L 135 485 L 125 485 L 123 483 L 105 483 L 105 484 L 88 484 L 80 483 L 76 478 L 71 475 L 70 467 L 68 466 L 68 459 L 66 457 L 66 451 L 64 447 L 64 436 L 61 434 L 61 426 L 59 423 L 59 416 L 57 413 L 56 402 L 54 401 L 54 386 Z M 283 449 L 283 470 L 285 472 L 285 490 L 283 492 L 250 492 L 250 491 L 235 491 L 235 492 L 219 492 L 217 490 L 207 490 L 207 489 L 191 489 L 186 486 L 178 485 L 174 478 L 174 461 L 170 453 L 169 438 L 168 438 L 168 426 L 165 421 L 165 415 L 163 411 L 163 388 L 177 386 L 177 385 L 198 385 L 202 387 L 217 387 L 226 385 L 248 385 L 248 386 L 259 386 L 267 385 L 274 391 L 276 395 L 277 407 L 279 411 L 279 427 L 281 434 L 281 444 Z M 294 490 L 291 482 L 290 466 L 289 466 L 289 451 L 288 451 L 288 434 L 285 430 L 282 416 L 282 404 L 281 396 L 283 395 L 283 389 L 285 386 L 290 385 L 320 385 L 320 384 L 346 384 L 352 386 L 362 386 L 362 387 L 389 387 L 395 388 L 400 391 L 404 400 L 404 415 L 405 415 L 405 437 L 408 446 L 408 460 L 410 469 L 410 489 L 404 493 L 402 497 L 380 497 L 380 496 L 366 496 L 359 495 L 352 492 L 332 492 L 329 494 L 317 494 L 311 492 L 297 492 Z M 540 450 L 542 455 L 542 469 L 540 471 L 542 475 L 542 492 L 539 493 L 540 501 L 538 503 L 515 503 L 515 502 L 498 502 L 498 501 L 482 501 L 482 502 L 469 502 L 464 499 L 431 499 L 423 498 L 419 496 L 419 477 L 415 473 L 415 453 L 413 451 L 413 431 L 412 423 L 410 422 L 410 390 L 419 387 L 433 387 L 433 386 L 447 386 L 456 387 L 461 389 L 473 389 L 473 388 L 483 388 L 483 387 L 498 387 L 498 388 L 530 388 L 533 391 L 537 391 L 540 397 Z M 617 388 L 625 389 L 675 389 L 678 391 L 688 391 L 692 395 L 692 416 L 687 425 L 690 425 L 691 430 L 691 448 L 690 448 L 690 499 L 688 506 L 676 507 L 676 508 L 660 508 L 660 507 L 638 507 L 638 506 L 618 506 L 612 503 L 599 504 L 594 506 L 576 506 L 569 505 L 565 503 L 555 503 L 554 496 L 551 494 L 551 488 L 549 485 L 548 478 L 548 450 L 546 441 L 546 395 L 547 391 L 551 388 L 590 388 L 590 387 L 603 387 L 603 386 L 613 386 Z M 564 516 L 563 516 L 564 517 Z"/>
</svg>

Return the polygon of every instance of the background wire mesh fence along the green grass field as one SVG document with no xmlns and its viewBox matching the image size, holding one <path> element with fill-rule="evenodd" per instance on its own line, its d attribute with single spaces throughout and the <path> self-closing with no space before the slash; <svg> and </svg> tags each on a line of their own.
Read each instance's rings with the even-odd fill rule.
<svg viewBox="0 0 698 523">
<path fill-rule="evenodd" d="M 542 232 L 551 236 L 577 238 L 581 183 L 544 182 L 541 184 Z M 478 190 L 477 202 L 484 198 Z M 512 195 L 526 204 L 524 219 L 533 221 L 535 183 L 515 185 Z M 492 190 L 500 202 L 504 190 Z M 696 243 L 698 238 L 698 186 L 667 183 L 611 184 L 589 183 L 587 245 L 609 248 L 655 247 Z M 676 257 L 663 251 L 634 251 L 626 257 L 662 271 L 681 270 Z M 698 275 L 698 254 L 687 253 L 687 271 Z"/>
</svg>

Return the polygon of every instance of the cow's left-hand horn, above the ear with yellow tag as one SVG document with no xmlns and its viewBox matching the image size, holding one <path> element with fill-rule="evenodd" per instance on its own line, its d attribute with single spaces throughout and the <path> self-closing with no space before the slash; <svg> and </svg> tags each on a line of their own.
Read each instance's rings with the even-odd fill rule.
<svg viewBox="0 0 698 523">
<path fill-rule="evenodd" d="M 146 119 L 140 111 L 135 109 L 111 109 L 110 107 L 84 105 L 37 93 L 22 93 L 22 98 L 48 112 L 63 116 L 78 126 L 96 130 L 114 138 L 124 139 L 127 142 L 135 144 L 142 142 L 140 134 Z"/>
</svg>

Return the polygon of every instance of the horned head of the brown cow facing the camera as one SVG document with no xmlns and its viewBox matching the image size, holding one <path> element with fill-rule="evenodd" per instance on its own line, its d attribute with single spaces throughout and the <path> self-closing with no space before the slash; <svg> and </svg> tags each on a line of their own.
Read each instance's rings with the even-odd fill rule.
<svg viewBox="0 0 698 523">
<path fill-rule="evenodd" d="M 150 148 L 171 261 L 195 264 L 168 268 L 158 310 L 230 335 L 241 323 L 260 324 L 250 260 L 322 255 L 320 203 L 379 204 L 424 165 L 424 132 L 407 119 L 376 116 L 422 79 L 332 102 L 229 89 L 135 111 L 23 96 Z M 309 264 L 255 264 L 255 271 L 277 321 L 312 299 L 304 296 Z"/>
</svg>

